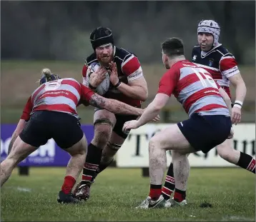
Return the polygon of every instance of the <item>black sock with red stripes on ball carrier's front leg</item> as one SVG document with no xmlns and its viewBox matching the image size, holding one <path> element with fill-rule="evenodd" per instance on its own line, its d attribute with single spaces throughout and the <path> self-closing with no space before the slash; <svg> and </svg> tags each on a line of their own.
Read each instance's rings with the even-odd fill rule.
<svg viewBox="0 0 256 222">
<path fill-rule="evenodd" d="M 96 171 L 99 171 L 99 163 L 102 158 L 102 149 L 89 143 L 87 151 L 87 159 L 84 163 L 82 183 L 93 181 Z"/>
</svg>

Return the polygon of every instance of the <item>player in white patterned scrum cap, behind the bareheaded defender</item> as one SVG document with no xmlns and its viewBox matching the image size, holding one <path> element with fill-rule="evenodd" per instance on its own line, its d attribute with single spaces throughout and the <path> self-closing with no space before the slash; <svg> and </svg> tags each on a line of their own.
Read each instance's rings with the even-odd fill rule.
<svg viewBox="0 0 256 222">
<path fill-rule="evenodd" d="M 192 50 L 192 62 L 212 74 L 212 78 L 230 96 L 230 83 L 235 86 L 235 104 L 232 107 L 232 123 L 240 123 L 242 104 L 245 100 L 246 86 L 237 67 L 235 57 L 219 43 L 220 26 L 216 21 L 200 21 L 197 27 L 198 45 Z M 247 171 L 255 173 L 255 158 L 237 151 L 232 146 L 233 140 L 227 139 L 218 145 L 217 153 L 221 158 Z M 232 153 L 232 155 L 230 155 Z M 175 188 L 172 163 L 162 188 L 166 200 L 170 198 Z"/>
</svg>

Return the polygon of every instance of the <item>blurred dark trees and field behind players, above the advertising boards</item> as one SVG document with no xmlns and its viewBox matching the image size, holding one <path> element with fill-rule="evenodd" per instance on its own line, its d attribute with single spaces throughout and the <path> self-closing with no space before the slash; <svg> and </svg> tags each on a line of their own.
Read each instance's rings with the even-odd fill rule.
<svg viewBox="0 0 256 222">
<path fill-rule="evenodd" d="M 147 106 L 164 73 L 162 41 L 183 39 L 191 59 L 202 19 L 220 24 L 220 43 L 237 59 L 247 85 L 242 121 L 255 122 L 255 1 L 1 1 L 1 123 L 19 120 L 44 67 L 82 81 L 84 59 L 93 52 L 89 34 L 97 26 L 112 29 L 116 46 L 139 57 Z M 92 123 L 93 108 L 79 107 L 79 115 Z M 187 116 L 174 98 L 161 115 L 162 122 Z"/>
</svg>

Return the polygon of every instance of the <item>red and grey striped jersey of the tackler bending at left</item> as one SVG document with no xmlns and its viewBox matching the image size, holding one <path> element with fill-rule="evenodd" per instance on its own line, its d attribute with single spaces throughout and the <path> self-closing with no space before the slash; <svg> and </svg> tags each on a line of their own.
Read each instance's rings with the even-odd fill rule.
<svg viewBox="0 0 256 222">
<path fill-rule="evenodd" d="M 83 101 L 89 101 L 93 94 L 94 91 L 72 78 L 46 82 L 29 96 L 21 119 L 27 121 L 31 113 L 41 110 L 69 113 L 79 118 L 77 106 Z"/>
</svg>

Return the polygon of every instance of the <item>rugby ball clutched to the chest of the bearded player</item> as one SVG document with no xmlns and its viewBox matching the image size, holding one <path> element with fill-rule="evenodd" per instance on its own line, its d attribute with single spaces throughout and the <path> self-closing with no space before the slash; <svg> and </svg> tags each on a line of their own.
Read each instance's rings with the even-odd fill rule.
<svg viewBox="0 0 256 222">
<path fill-rule="evenodd" d="M 97 71 L 99 69 L 100 65 L 97 62 L 92 63 L 91 65 L 89 65 L 88 69 L 87 69 L 87 79 L 89 82 L 89 77 L 92 73 L 94 73 L 95 71 Z M 107 93 L 107 91 L 109 90 L 109 73 L 106 72 L 105 74 L 105 79 L 102 81 L 101 84 L 99 84 L 99 86 L 97 86 L 97 88 L 95 89 L 95 92 L 99 95 L 104 95 Z"/>
</svg>

